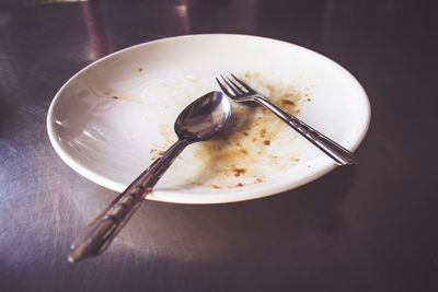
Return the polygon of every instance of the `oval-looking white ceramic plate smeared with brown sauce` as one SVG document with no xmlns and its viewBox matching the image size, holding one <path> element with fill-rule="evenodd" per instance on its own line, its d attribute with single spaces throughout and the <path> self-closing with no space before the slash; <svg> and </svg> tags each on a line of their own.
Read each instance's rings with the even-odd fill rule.
<svg viewBox="0 0 438 292">
<path fill-rule="evenodd" d="M 334 61 L 269 38 L 188 35 L 117 51 L 73 75 L 50 105 L 50 141 L 78 173 L 122 191 L 176 141 L 173 122 L 185 105 L 218 90 L 215 77 L 229 72 L 293 114 L 299 109 L 299 118 L 349 150 L 366 135 L 368 97 Z M 260 107 L 233 105 L 233 118 L 237 128 L 228 141 L 226 135 L 189 145 L 148 198 L 247 200 L 298 187 L 335 167 Z"/>
</svg>

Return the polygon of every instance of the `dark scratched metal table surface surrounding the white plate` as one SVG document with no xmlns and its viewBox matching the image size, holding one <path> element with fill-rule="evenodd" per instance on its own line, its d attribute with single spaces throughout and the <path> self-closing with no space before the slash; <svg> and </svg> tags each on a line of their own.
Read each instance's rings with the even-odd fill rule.
<svg viewBox="0 0 438 292">
<path fill-rule="evenodd" d="M 434 1 L 2 1 L 0 291 L 438 291 Z M 69 245 L 116 195 L 55 153 L 77 71 L 168 36 L 238 33 L 319 51 L 366 89 L 360 164 L 276 196 L 148 201 L 104 255 Z"/>
</svg>

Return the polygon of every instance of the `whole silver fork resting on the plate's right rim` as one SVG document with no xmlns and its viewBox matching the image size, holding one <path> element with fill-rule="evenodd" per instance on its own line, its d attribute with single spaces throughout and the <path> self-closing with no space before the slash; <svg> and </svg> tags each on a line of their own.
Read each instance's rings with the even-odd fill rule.
<svg viewBox="0 0 438 292">
<path fill-rule="evenodd" d="M 255 102 L 265 106 L 275 115 L 277 115 L 280 119 L 283 119 L 287 125 L 289 125 L 306 139 L 312 142 L 315 147 L 322 150 L 325 154 L 332 157 L 338 165 L 357 164 L 357 157 L 354 153 L 349 152 L 347 149 L 328 139 L 312 127 L 306 125 L 297 117 L 286 113 L 278 106 L 274 105 L 273 103 L 267 101 L 265 96 L 254 91 L 242 80 L 238 79 L 233 74 L 231 74 L 233 80 L 229 77 L 220 77 L 222 79 L 222 82 L 218 78 L 216 78 L 216 81 L 218 82 L 223 93 L 227 94 L 228 97 L 230 97 L 231 100 L 239 103 Z"/>
</svg>

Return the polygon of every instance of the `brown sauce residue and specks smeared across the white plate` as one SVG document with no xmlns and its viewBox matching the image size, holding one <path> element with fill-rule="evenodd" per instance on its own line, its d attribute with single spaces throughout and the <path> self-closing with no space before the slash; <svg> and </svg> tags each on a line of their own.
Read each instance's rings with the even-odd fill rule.
<svg viewBox="0 0 438 292">
<path fill-rule="evenodd" d="M 238 78 L 291 115 L 299 113 L 300 103 L 306 98 L 293 82 L 278 81 L 277 77 L 246 72 Z M 184 81 L 186 84 L 197 84 L 192 78 L 185 78 Z M 232 112 L 224 131 L 209 141 L 194 145 L 189 155 L 200 161 L 203 166 L 195 171 L 193 185 L 220 189 L 260 184 L 269 170 L 286 170 L 290 167 L 291 161 L 299 162 L 297 153 L 290 147 L 285 147 L 297 135 L 270 110 L 260 105 L 232 103 Z M 164 139 L 174 139 L 169 126 L 159 131 Z M 162 148 L 166 149 L 170 142 L 165 141 L 166 145 Z M 161 154 L 158 149 L 150 152 L 152 160 Z"/>
</svg>

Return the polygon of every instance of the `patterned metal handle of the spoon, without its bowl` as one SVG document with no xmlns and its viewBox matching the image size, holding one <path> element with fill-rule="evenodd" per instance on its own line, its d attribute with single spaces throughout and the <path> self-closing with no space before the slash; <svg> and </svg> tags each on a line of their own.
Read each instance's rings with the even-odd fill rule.
<svg viewBox="0 0 438 292">
<path fill-rule="evenodd" d="M 69 261 L 79 261 L 103 253 L 140 207 L 145 197 L 152 190 L 176 156 L 188 144 L 187 140 L 177 140 L 117 196 L 71 244 L 71 253 L 68 256 Z"/>
</svg>

